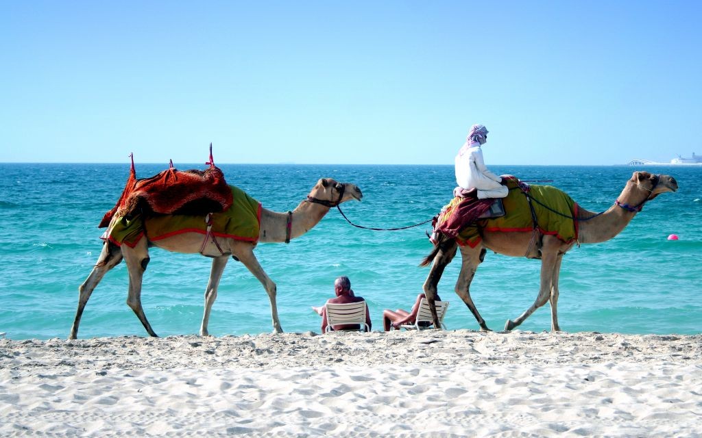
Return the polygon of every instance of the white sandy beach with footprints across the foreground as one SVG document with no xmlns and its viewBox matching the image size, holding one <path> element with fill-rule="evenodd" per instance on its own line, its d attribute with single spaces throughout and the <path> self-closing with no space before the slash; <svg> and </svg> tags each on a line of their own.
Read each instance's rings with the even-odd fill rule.
<svg viewBox="0 0 702 438">
<path fill-rule="evenodd" d="M 702 335 L 5 339 L 0 370 L 1 436 L 702 436 Z"/>
</svg>

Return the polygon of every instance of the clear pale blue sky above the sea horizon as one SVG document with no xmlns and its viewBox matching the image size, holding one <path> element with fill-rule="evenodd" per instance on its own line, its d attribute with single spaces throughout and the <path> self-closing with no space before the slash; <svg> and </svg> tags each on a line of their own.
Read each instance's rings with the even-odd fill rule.
<svg viewBox="0 0 702 438">
<path fill-rule="evenodd" d="M 700 1 L 0 0 L 0 162 L 702 153 Z"/>
</svg>

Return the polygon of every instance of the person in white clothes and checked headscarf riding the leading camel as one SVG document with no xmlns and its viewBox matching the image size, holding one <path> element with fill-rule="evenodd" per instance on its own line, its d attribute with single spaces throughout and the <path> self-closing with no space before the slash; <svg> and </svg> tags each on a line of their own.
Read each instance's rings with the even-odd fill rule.
<svg viewBox="0 0 702 438">
<path fill-rule="evenodd" d="M 501 184 L 502 178 L 485 166 L 480 146 L 487 142 L 488 130 L 483 125 L 472 125 L 465 143 L 456 155 L 456 183 L 462 189 L 477 189 L 479 199 L 504 198 L 509 193 Z"/>
</svg>

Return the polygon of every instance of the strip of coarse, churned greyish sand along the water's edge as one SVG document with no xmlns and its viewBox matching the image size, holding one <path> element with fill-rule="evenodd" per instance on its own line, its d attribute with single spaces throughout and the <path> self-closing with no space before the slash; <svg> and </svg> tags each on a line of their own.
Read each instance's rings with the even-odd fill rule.
<svg viewBox="0 0 702 438">
<path fill-rule="evenodd" d="M 146 338 L 117 336 L 66 340 L 0 339 L 4 369 L 94 369 L 98 366 L 133 369 L 204 367 L 307 367 L 325 360 L 350 366 L 432 364 L 552 364 L 586 361 L 602 363 L 690 362 L 702 364 L 702 334 L 604 334 L 532 331 L 354 331 L 305 333 L 196 335 Z M 392 355 L 388 356 L 388 352 Z M 143 355 L 145 353 L 146 355 Z M 548 354 L 542 354 L 548 353 Z M 8 363 L 8 358 L 11 358 Z M 39 359 L 41 358 L 41 359 Z M 60 358 L 60 360 L 58 360 Z M 57 362 L 58 360 L 58 362 Z M 322 361 L 324 362 L 324 360 Z"/>
</svg>

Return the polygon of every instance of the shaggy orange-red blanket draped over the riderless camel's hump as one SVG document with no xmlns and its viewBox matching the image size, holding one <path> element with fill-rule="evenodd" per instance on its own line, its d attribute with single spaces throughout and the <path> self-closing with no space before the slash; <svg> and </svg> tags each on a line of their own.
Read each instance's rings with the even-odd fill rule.
<svg viewBox="0 0 702 438">
<path fill-rule="evenodd" d="M 232 191 L 224 173 L 211 165 L 207 170 L 168 170 L 150 178 L 136 179 L 132 163 L 129 179 L 112 210 L 105 213 L 99 228 L 110 225 L 112 217 L 129 217 L 136 212 L 159 214 L 207 214 L 232 206 Z"/>
</svg>

